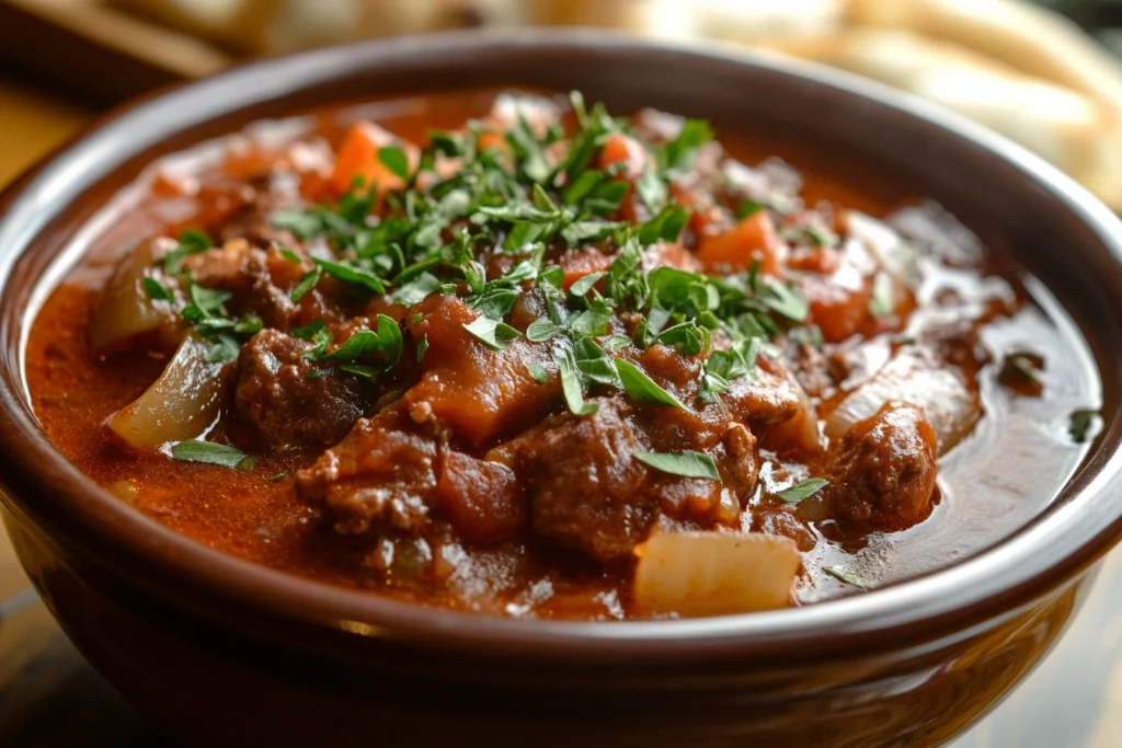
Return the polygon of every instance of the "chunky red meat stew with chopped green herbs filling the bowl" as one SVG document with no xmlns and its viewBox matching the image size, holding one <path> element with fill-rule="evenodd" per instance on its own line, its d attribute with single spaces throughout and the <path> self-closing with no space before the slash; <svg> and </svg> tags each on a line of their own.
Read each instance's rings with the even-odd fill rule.
<svg viewBox="0 0 1122 748">
<path fill-rule="evenodd" d="M 1000 236 L 782 135 L 362 103 L 159 159 L 98 220 L 28 347 L 54 442 L 201 543 L 417 603 L 861 593 L 1023 525 L 1097 423 Z"/>
</svg>

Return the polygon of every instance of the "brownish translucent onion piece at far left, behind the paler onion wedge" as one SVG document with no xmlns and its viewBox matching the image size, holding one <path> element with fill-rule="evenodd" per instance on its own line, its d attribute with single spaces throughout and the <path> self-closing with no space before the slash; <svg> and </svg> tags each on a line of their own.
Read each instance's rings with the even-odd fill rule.
<svg viewBox="0 0 1122 748">
<path fill-rule="evenodd" d="M 175 246 L 173 239 L 151 239 L 121 259 L 90 315 L 90 347 L 94 352 L 123 348 L 141 335 L 155 335 L 168 348 L 177 342 L 181 333 L 172 305 L 154 302 L 144 287 L 153 261 Z"/>
</svg>

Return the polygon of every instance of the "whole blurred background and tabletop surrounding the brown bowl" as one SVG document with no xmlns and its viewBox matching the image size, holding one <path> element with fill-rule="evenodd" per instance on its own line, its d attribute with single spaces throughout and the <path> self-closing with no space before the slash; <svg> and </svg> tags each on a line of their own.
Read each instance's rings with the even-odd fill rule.
<svg viewBox="0 0 1122 748">
<path fill-rule="evenodd" d="M 1004 133 L 1122 212 L 1122 0 L 0 0 L 0 186 L 114 103 L 242 59 L 541 25 L 834 65 Z M 83 663 L 0 537 L 0 746 L 164 745 Z M 1122 548 L 1057 652 L 954 744 L 1020 746 L 1122 748 Z"/>
</svg>

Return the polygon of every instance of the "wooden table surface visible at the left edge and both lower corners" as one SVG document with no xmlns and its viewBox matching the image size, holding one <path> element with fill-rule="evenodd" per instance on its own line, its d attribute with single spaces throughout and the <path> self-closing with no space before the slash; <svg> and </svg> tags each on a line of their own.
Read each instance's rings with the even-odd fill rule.
<svg viewBox="0 0 1122 748">
<path fill-rule="evenodd" d="M 0 185 L 95 116 L 0 73 Z M 0 459 L 3 459 L 0 455 Z M 148 748 L 167 739 L 73 649 L 0 536 L 0 746 Z M 954 748 L 1122 748 L 1122 547 L 1048 659 Z"/>
</svg>

